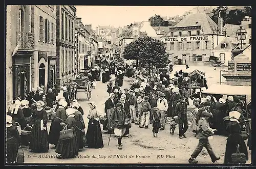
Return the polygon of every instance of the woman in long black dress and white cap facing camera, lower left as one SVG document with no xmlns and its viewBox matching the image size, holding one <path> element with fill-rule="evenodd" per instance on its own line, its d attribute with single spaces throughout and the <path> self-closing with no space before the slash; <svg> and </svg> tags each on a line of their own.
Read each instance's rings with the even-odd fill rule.
<svg viewBox="0 0 256 169">
<path fill-rule="evenodd" d="M 47 140 L 47 112 L 42 108 L 44 102 L 41 100 L 36 102 L 36 109 L 34 109 L 32 120 L 31 142 L 29 149 L 36 153 L 45 153 L 49 150 L 49 143 Z"/>
</svg>

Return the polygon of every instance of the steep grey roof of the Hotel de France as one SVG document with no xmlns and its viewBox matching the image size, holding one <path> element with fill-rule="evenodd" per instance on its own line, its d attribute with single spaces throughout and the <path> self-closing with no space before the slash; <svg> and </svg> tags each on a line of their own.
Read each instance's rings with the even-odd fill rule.
<svg viewBox="0 0 256 169">
<path fill-rule="evenodd" d="M 182 19 L 175 27 L 201 25 L 204 34 L 217 34 L 218 25 L 205 13 L 191 14 Z"/>
</svg>

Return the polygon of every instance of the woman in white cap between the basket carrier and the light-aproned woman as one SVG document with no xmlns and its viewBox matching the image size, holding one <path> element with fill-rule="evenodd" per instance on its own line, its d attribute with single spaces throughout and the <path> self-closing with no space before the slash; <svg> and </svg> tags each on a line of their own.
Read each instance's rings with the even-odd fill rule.
<svg viewBox="0 0 256 169">
<path fill-rule="evenodd" d="M 72 108 L 75 109 L 75 130 L 76 130 L 76 137 L 77 137 L 77 146 L 79 149 L 82 149 L 85 145 L 83 145 L 83 135 L 84 133 L 84 128 L 86 128 L 86 125 L 84 124 L 83 118 L 82 118 L 82 114 L 81 112 L 78 110 L 79 104 L 74 102 L 72 104 Z"/>
</svg>

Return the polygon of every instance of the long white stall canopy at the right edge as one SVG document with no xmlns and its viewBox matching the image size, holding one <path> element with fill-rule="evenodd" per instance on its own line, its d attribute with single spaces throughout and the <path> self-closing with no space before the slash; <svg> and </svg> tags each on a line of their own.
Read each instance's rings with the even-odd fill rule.
<svg viewBox="0 0 256 169">
<path fill-rule="evenodd" d="M 245 96 L 246 102 L 251 102 L 251 87 L 250 86 L 231 86 L 231 85 L 211 85 L 207 90 L 202 91 L 205 94 L 219 94 L 219 95 L 237 95 Z"/>
</svg>

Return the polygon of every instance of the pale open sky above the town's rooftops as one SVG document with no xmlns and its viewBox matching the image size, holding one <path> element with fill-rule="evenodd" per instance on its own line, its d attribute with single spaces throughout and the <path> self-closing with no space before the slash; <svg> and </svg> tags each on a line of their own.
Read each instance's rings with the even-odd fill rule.
<svg viewBox="0 0 256 169">
<path fill-rule="evenodd" d="M 196 6 L 76 6 L 77 17 L 83 24 L 123 27 L 135 21 L 148 20 L 151 16 L 182 16 Z"/>
</svg>

